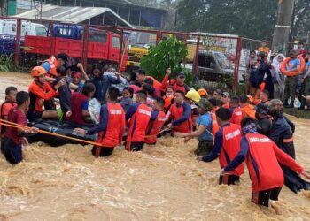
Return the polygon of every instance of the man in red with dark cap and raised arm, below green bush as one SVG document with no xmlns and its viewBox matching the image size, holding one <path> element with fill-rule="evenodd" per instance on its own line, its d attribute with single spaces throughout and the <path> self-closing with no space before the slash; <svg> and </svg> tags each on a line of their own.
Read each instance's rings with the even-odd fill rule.
<svg viewBox="0 0 310 221">
<path fill-rule="evenodd" d="M 185 73 L 184 72 L 178 72 L 176 74 L 176 80 L 170 79 L 171 75 L 171 69 L 168 68 L 166 71 L 166 75 L 164 79 L 161 82 L 161 90 L 166 91 L 166 88 L 168 85 L 171 85 L 174 88 L 174 91 L 182 91 L 184 95 L 190 90 L 190 87 L 185 84 Z"/>
</svg>

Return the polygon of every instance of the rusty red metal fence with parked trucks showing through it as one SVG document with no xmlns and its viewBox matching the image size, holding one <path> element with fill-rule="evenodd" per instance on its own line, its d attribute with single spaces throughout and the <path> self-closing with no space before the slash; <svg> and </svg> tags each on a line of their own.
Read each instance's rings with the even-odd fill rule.
<svg viewBox="0 0 310 221">
<path fill-rule="evenodd" d="M 184 42 L 189 54 L 182 64 L 192 71 L 200 82 L 225 82 L 225 88 L 236 92 L 242 72 L 242 39 L 228 34 L 190 34 L 157 30 L 74 25 L 51 20 L 0 17 L 12 21 L 11 33 L 0 36 L 0 53 L 14 56 L 14 63 L 25 71 L 40 65 L 44 59 L 60 52 L 74 57 L 84 66 L 109 60 L 123 67 L 129 62 L 138 63 L 143 57 L 130 54 L 127 40 L 157 45 L 162 39 L 174 34 Z M 69 28 L 74 26 L 74 28 Z M 58 27 L 58 28 L 56 28 Z M 68 27 L 68 28 L 66 28 Z M 55 29 L 56 28 L 56 29 Z M 145 40 L 145 39 L 144 39 Z M 125 49 L 126 48 L 126 49 Z M 147 47 L 144 47 L 147 53 Z M 127 50 L 125 57 L 122 57 Z M 135 64 L 134 64 L 135 65 Z M 242 67 L 240 69 L 240 67 Z M 127 69 L 128 70 L 128 69 Z M 124 71 L 124 70 L 123 70 Z"/>
</svg>

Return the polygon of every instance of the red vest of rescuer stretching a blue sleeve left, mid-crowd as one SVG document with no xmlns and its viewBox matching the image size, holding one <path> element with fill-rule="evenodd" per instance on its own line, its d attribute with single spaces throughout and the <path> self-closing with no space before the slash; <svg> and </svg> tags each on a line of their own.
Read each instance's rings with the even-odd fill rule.
<svg viewBox="0 0 310 221">
<path fill-rule="evenodd" d="M 184 112 L 184 105 L 185 103 L 183 103 L 180 107 L 178 107 L 176 103 L 174 103 L 171 106 L 169 111 L 171 113 L 171 116 L 174 118 L 174 120 L 182 117 L 183 112 Z M 192 123 L 191 116 L 190 118 L 182 122 L 182 124 L 178 126 L 174 126 L 174 132 L 189 133 L 192 130 L 193 130 L 193 123 Z"/>
</svg>

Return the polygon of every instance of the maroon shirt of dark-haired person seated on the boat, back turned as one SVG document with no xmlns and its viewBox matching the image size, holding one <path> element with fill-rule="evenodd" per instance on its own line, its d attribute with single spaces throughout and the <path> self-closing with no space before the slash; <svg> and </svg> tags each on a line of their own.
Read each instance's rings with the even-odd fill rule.
<svg viewBox="0 0 310 221">
<path fill-rule="evenodd" d="M 74 92 L 71 95 L 71 111 L 72 114 L 70 117 L 66 118 L 65 120 L 73 122 L 75 124 L 84 124 L 85 121 L 81 114 L 81 105 L 88 100 L 86 95 L 83 95 L 79 92 Z"/>
</svg>

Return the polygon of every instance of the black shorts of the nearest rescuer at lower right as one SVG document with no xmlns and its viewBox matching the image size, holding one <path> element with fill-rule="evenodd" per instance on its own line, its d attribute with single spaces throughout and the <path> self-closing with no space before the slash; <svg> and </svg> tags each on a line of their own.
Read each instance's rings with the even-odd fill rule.
<svg viewBox="0 0 310 221">
<path fill-rule="evenodd" d="M 252 192 L 252 202 L 267 207 L 269 206 L 269 199 L 273 201 L 278 200 L 281 189 L 282 187 L 275 187 L 255 193 Z"/>
</svg>

